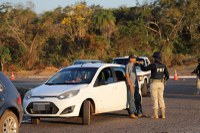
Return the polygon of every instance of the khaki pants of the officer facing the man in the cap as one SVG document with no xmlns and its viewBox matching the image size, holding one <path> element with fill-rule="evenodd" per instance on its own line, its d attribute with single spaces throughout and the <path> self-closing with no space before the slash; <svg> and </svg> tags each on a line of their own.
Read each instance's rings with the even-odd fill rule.
<svg viewBox="0 0 200 133">
<path fill-rule="evenodd" d="M 164 83 L 161 81 L 152 81 L 150 84 L 151 99 L 153 102 L 153 109 L 165 109 L 165 102 L 163 98 Z"/>
</svg>

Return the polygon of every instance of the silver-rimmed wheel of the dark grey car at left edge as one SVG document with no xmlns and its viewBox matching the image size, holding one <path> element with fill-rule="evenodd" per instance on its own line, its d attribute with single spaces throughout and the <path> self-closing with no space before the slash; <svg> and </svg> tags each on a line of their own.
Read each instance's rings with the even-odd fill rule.
<svg viewBox="0 0 200 133">
<path fill-rule="evenodd" d="M 1 133 L 19 133 L 19 122 L 12 111 L 5 111 L 0 121 Z"/>
</svg>

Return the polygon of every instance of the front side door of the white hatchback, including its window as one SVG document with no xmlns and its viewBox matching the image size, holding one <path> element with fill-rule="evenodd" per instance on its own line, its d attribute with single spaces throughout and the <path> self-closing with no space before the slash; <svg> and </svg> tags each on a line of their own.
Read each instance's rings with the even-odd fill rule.
<svg viewBox="0 0 200 133">
<path fill-rule="evenodd" d="M 104 68 L 99 73 L 92 90 L 96 102 L 96 113 L 116 110 L 118 106 L 116 85 L 111 68 Z"/>
</svg>

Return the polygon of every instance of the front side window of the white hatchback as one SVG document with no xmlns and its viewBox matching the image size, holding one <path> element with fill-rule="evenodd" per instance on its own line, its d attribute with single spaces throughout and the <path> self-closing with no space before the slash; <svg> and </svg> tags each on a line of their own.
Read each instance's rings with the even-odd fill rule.
<svg viewBox="0 0 200 133">
<path fill-rule="evenodd" d="M 114 78 L 112 75 L 112 71 L 110 68 L 103 69 L 97 78 L 96 84 L 98 85 L 105 85 L 114 82 Z"/>
</svg>

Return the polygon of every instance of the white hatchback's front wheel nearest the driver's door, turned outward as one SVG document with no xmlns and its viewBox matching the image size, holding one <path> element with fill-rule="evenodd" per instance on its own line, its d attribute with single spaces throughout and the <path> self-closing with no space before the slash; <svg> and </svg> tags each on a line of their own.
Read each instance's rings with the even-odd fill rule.
<svg viewBox="0 0 200 133">
<path fill-rule="evenodd" d="M 83 103 L 82 123 L 83 125 L 90 125 L 90 101 L 86 100 Z"/>
</svg>

